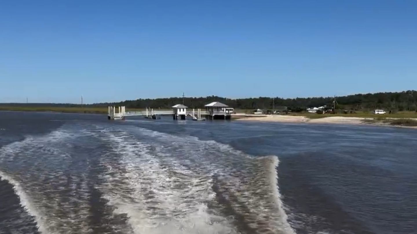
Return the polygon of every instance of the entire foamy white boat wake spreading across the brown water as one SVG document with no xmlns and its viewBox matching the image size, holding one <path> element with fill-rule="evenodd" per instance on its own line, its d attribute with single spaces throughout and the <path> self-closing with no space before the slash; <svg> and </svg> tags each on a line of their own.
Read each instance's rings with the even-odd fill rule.
<svg viewBox="0 0 417 234">
<path fill-rule="evenodd" d="M 0 149 L 0 177 L 39 232 L 294 233 L 276 156 L 123 127 L 64 124 Z"/>
</svg>

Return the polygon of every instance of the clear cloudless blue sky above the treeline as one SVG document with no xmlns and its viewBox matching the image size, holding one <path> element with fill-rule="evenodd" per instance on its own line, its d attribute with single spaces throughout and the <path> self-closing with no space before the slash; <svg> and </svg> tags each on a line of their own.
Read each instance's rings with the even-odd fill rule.
<svg viewBox="0 0 417 234">
<path fill-rule="evenodd" d="M 0 102 L 417 89 L 416 0 L 10 0 Z"/>
</svg>

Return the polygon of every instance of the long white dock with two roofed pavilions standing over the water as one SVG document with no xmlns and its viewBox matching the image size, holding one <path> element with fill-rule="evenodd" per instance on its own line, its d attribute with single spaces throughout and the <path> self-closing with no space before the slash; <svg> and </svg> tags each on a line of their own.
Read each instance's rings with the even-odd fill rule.
<svg viewBox="0 0 417 234">
<path fill-rule="evenodd" d="M 211 102 L 204 106 L 204 109 L 192 109 L 182 104 L 172 106 L 172 110 L 153 110 L 153 108 L 146 108 L 144 111 L 126 111 L 126 107 L 108 107 L 107 118 L 109 120 L 125 120 L 130 116 L 143 116 L 148 119 L 160 119 L 161 116 L 172 116 L 174 120 L 186 120 L 191 117 L 195 121 L 204 121 L 212 119 L 231 119 L 231 112 L 227 110 L 227 105 L 221 102 Z"/>
</svg>

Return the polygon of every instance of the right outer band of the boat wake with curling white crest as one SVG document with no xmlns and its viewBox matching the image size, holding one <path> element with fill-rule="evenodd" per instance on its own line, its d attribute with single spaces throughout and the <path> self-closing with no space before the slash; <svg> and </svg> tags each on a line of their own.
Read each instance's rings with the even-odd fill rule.
<svg viewBox="0 0 417 234">
<path fill-rule="evenodd" d="M 173 145 L 178 146 L 177 149 L 182 147 L 187 150 L 184 157 L 210 160 L 211 167 L 209 169 L 215 168 L 216 173 L 222 177 L 221 181 L 225 189 L 237 195 L 234 199 L 237 199 L 238 202 L 234 203 L 236 205 L 234 208 L 241 209 L 239 204 L 246 204 L 250 208 L 249 212 L 242 209 L 239 211 L 245 213 L 248 219 L 254 218 L 253 222 L 249 222 L 249 226 L 252 225 L 253 228 L 259 229 L 260 227 L 257 226 L 259 222 L 266 222 L 269 223 L 267 228 L 270 230 L 286 234 L 295 233 L 287 221 L 288 217 L 279 193 L 276 172 L 276 167 L 279 164 L 278 157 L 252 157 L 230 145 L 214 140 L 201 141 L 192 136 L 177 137 L 161 132 L 140 130 L 142 134 L 147 136 L 175 142 Z M 202 155 L 199 155 L 200 153 Z M 237 163 L 246 168 L 236 168 Z M 246 171 L 246 169 L 252 172 Z M 251 175 L 253 172 L 256 172 L 255 177 Z M 265 186 L 266 184 L 268 186 Z M 271 197 L 259 197 L 259 191 L 271 193 Z M 269 219 L 262 218 L 266 213 L 269 214 Z M 274 219 L 271 220 L 271 217 Z"/>
</svg>

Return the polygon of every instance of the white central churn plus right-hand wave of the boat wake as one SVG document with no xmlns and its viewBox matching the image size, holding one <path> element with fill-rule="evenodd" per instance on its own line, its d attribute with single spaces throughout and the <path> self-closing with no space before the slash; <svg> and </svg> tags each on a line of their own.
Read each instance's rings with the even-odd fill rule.
<svg viewBox="0 0 417 234">
<path fill-rule="evenodd" d="M 106 194 L 134 227 L 147 233 L 172 233 L 172 226 L 181 233 L 294 233 L 279 194 L 278 157 L 142 128 L 106 134 L 113 157 L 120 157 L 118 165 L 103 158 Z"/>
</svg>

